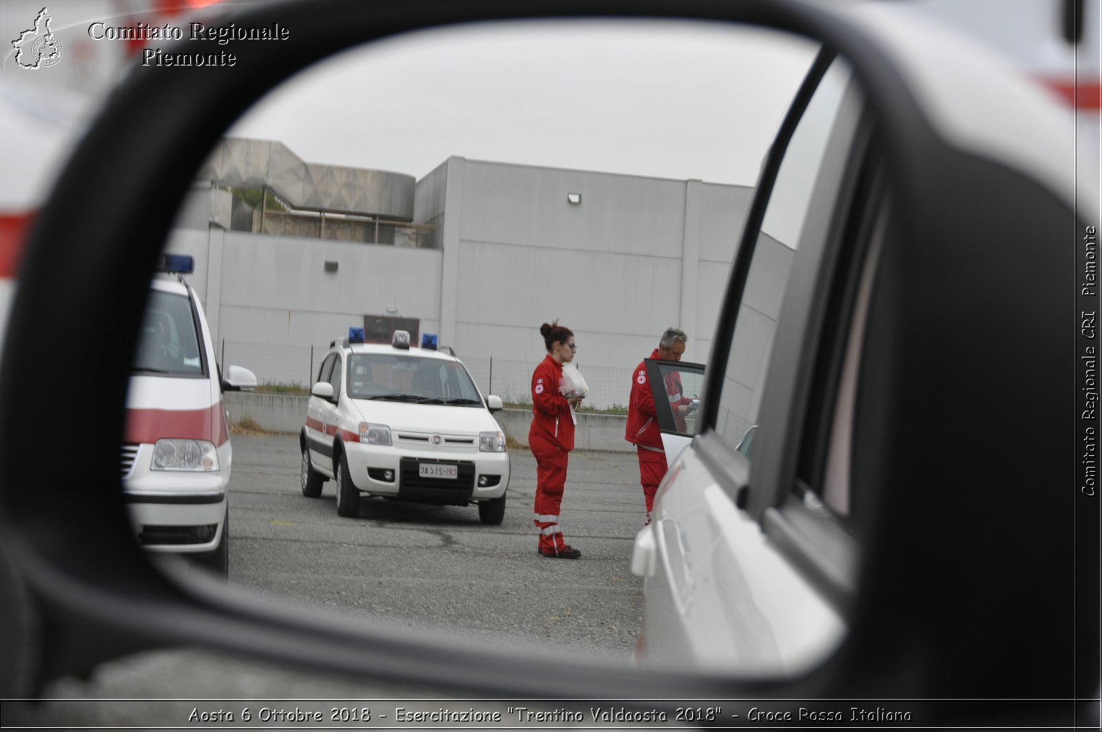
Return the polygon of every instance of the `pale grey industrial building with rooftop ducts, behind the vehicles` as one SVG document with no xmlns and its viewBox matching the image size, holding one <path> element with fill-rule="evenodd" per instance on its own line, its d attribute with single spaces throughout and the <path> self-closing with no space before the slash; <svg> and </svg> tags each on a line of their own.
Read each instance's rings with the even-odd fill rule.
<svg viewBox="0 0 1102 732">
<path fill-rule="evenodd" d="M 707 358 L 753 193 L 460 157 L 414 181 L 229 138 L 201 175 L 168 249 L 195 256 L 225 363 L 304 385 L 349 326 L 412 320 L 482 388 L 523 400 L 539 326 L 558 319 L 599 408 L 626 403 L 630 369 L 670 325 L 690 336 L 687 360 Z M 291 211 L 251 209 L 220 186 L 270 191 Z"/>
</svg>

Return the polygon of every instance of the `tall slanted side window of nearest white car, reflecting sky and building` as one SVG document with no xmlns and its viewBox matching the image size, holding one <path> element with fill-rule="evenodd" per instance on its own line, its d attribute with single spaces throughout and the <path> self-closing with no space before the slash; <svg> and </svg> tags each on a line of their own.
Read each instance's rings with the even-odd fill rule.
<svg viewBox="0 0 1102 732">
<path fill-rule="evenodd" d="M 804 223 L 849 78 L 849 67 L 839 61 L 819 84 L 789 142 L 765 211 L 719 399 L 715 430 L 732 449 L 738 449 L 758 423 L 774 333 L 796 252 L 808 237 L 825 236 L 824 227 L 804 230 Z M 748 458 L 748 445 L 741 452 Z"/>
</svg>

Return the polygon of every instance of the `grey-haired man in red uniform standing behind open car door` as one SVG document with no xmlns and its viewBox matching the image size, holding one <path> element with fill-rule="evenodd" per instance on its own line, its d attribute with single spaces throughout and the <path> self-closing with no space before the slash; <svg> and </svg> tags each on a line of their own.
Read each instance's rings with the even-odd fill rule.
<svg viewBox="0 0 1102 732">
<path fill-rule="evenodd" d="M 685 341 L 688 340 L 689 336 L 685 335 L 684 331 L 668 327 L 662 333 L 658 347 L 649 357 L 662 360 L 681 360 L 681 354 L 685 352 Z M 642 484 L 642 495 L 647 502 L 647 520 L 644 523 L 646 526 L 650 524 L 650 512 L 655 507 L 655 493 L 658 491 L 658 484 L 666 476 L 668 465 L 666 464 L 666 450 L 662 448 L 662 437 L 658 429 L 655 397 L 650 392 L 645 360 L 639 362 L 631 376 L 631 397 L 627 405 L 627 432 L 624 439 L 635 444 L 639 456 L 639 482 Z M 677 372 L 670 372 L 666 376 L 666 395 L 670 401 L 670 409 L 678 429 L 684 431 L 684 412 L 689 409 L 688 405 L 692 402 L 692 399 L 682 392 L 681 377 Z"/>
</svg>

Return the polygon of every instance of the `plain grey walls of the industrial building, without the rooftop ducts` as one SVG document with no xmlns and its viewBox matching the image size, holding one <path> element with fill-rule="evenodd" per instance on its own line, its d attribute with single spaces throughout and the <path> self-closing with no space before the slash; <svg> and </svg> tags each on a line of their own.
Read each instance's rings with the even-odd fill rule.
<svg viewBox="0 0 1102 732">
<path fill-rule="evenodd" d="M 752 194 L 453 157 L 414 196 L 415 220 L 440 225 L 441 249 L 214 228 L 180 228 L 169 249 L 196 256 L 191 281 L 216 338 L 305 347 L 307 365 L 311 346 L 393 309 L 464 358 L 531 367 L 545 353 L 540 324 L 559 319 L 574 330 L 583 373 L 630 369 L 670 325 L 689 333 L 684 358 L 706 362 Z M 244 357 L 239 365 L 269 380 L 266 357 Z M 527 390 L 530 373 L 512 390 Z M 617 401 L 609 389 L 593 397 L 598 408 Z"/>
</svg>

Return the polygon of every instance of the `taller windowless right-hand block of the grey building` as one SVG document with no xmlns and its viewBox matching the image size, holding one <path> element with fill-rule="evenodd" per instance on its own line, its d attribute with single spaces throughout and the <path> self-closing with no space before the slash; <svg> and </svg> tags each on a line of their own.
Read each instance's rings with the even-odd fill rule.
<svg viewBox="0 0 1102 732">
<path fill-rule="evenodd" d="M 538 360 L 539 326 L 559 319 L 575 333 L 580 364 L 630 368 L 670 325 L 689 332 L 685 359 L 707 357 L 750 189 L 450 164 L 462 170 L 462 193 L 449 202 L 460 220 L 445 249 L 458 250 L 455 277 L 473 286 L 455 293 L 464 353 Z"/>
</svg>

